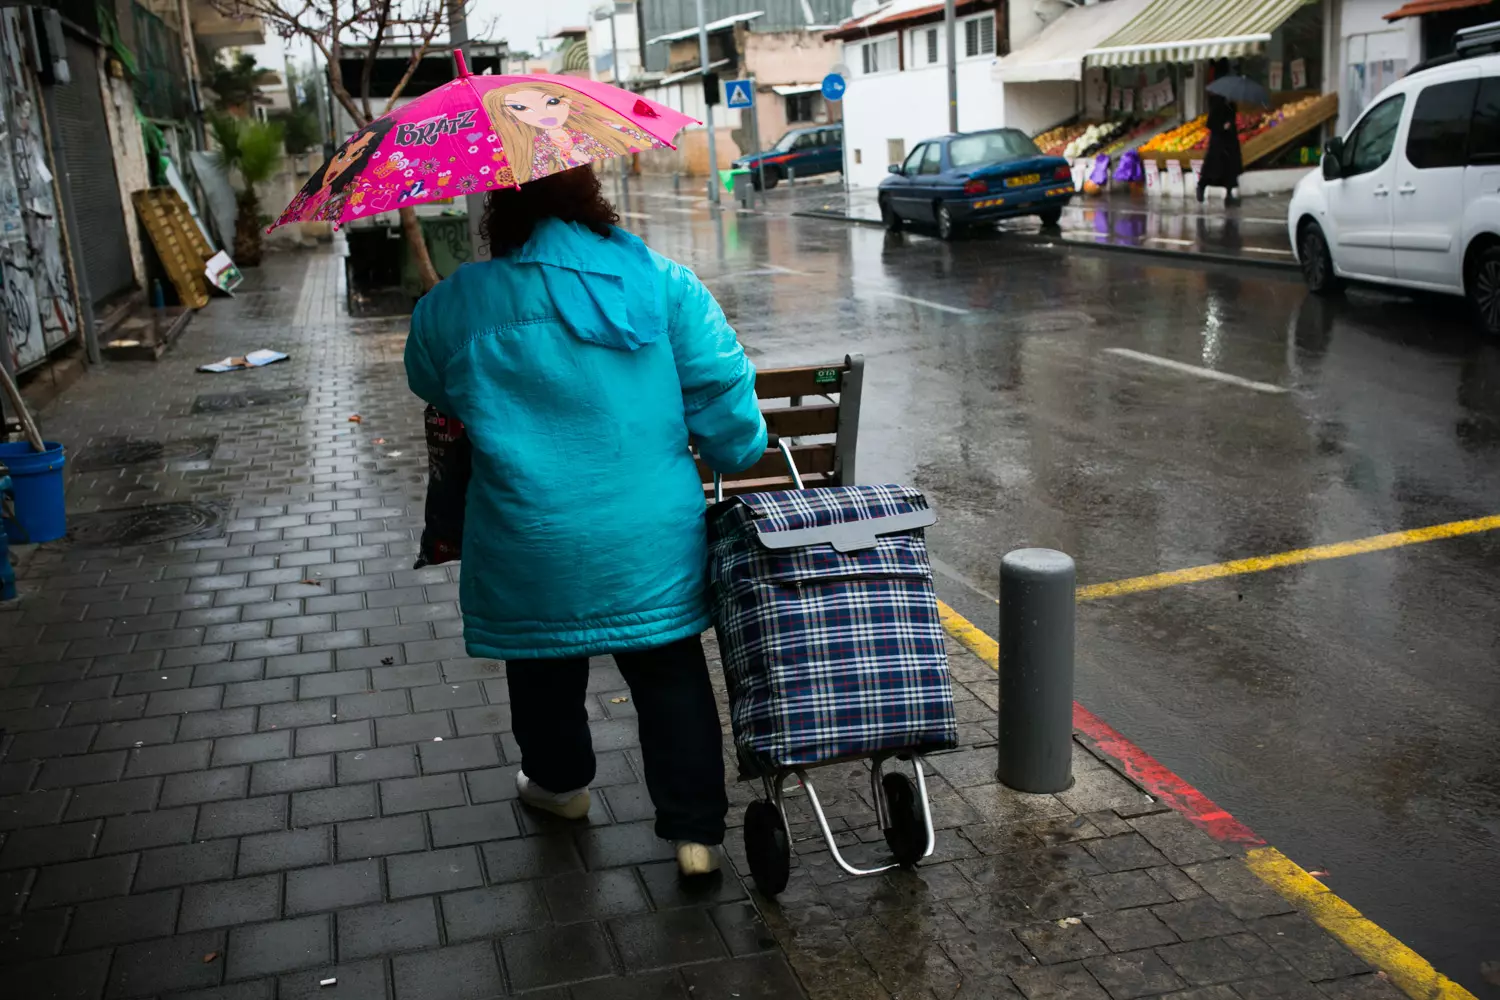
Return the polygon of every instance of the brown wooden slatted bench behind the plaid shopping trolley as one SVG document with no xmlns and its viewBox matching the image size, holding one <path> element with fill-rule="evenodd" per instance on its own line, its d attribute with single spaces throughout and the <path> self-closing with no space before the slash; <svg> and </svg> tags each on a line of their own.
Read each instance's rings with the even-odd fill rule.
<svg viewBox="0 0 1500 1000">
<path fill-rule="evenodd" d="M 756 373 L 754 394 L 772 435 L 792 445 L 804 486 L 854 486 L 860 439 L 860 394 L 864 355 L 850 354 L 842 364 L 766 369 Z M 766 403 L 772 405 L 766 405 Z M 704 495 L 714 498 L 714 472 L 702 460 L 698 472 Z M 766 451 L 744 472 L 724 480 L 724 496 L 792 489 L 786 459 Z"/>
</svg>

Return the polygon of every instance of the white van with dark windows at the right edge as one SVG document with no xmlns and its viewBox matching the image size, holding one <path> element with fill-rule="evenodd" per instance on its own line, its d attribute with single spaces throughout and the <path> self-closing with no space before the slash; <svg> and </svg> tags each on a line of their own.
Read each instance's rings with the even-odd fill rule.
<svg viewBox="0 0 1500 1000">
<path fill-rule="evenodd" d="M 1308 288 L 1346 280 L 1467 295 L 1500 336 L 1500 22 L 1380 91 L 1292 195 Z"/>
</svg>

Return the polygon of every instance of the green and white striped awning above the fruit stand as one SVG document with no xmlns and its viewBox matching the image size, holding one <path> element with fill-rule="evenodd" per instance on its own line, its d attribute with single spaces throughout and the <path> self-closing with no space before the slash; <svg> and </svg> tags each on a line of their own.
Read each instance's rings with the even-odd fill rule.
<svg viewBox="0 0 1500 1000">
<path fill-rule="evenodd" d="M 1155 0 L 1084 55 L 1088 66 L 1192 63 L 1266 48 L 1270 33 L 1317 0 Z"/>
</svg>

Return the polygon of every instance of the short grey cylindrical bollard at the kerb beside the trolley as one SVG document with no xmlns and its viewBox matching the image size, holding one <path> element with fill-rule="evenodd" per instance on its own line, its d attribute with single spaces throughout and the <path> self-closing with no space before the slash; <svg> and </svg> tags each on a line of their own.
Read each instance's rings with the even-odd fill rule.
<svg viewBox="0 0 1500 1000">
<path fill-rule="evenodd" d="M 1072 559 L 1017 549 L 1000 559 L 1000 781 L 1072 784 Z"/>
</svg>

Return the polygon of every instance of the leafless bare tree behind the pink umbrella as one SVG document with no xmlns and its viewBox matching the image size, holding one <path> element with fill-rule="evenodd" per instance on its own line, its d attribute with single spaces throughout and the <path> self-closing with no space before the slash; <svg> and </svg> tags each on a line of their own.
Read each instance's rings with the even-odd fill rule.
<svg viewBox="0 0 1500 1000">
<path fill-rule="evenodd" d="M 213 6 L 230 18 L 261 18 L 282 39 L 306 39 L 328 66 L 328 90 L 350 112 L 356 127 L 396 106 L 422 60 L 444 48 L 434 39 L 447 33 L 448 16 L 466 12 L 472 0 L 213 0 Z M 370 82 L 381 49 L 404 49 L 405 67 L 386 105 L 370 103 Z M 344 76 L 344 60 L 360 58 L 360 75 L 351 88 Z M 422 288 L 438 283 L 422 225 L 412 208 L 400 210 L 400 229 L 411 246 Z"/>
</svg>

